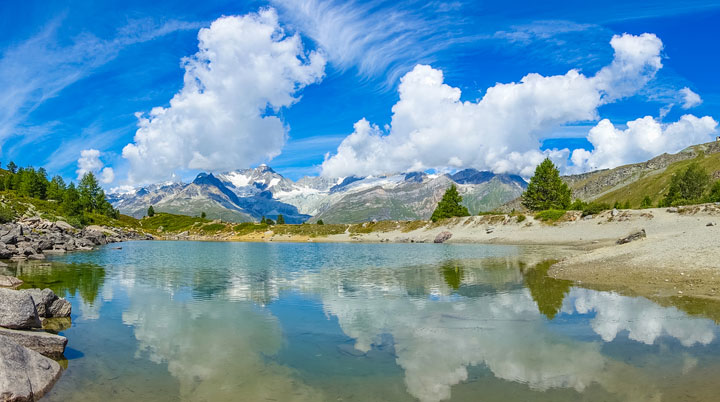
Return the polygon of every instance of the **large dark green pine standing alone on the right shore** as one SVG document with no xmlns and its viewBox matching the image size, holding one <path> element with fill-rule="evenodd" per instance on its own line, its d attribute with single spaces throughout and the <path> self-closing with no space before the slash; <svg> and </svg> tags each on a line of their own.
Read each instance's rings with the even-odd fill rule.
<svg viewBox="0 0 720 402">
<path fill-rule="evenodd" d="M 523 205 L 533 211 L 546 209 L 567 209 L 570 206 L 571 191 L 560 178 L 560 172 L 546 158 L 535 168 L 535 175 L 522 195 Z"/>
</svg>

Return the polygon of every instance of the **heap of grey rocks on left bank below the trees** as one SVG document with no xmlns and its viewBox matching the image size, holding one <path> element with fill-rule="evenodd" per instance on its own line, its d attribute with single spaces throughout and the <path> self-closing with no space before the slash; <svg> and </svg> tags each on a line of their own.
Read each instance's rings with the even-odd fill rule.
<svg viewBox="0 0 720 402">
<path fill-rule="evenodd" d="M 76 229 L 67 222 L 39 217 L 0 225 L 0 259 L 42 260 L 45 254 L 91 250 L 94 246 L 125 240 L 149 240 L 152 236 L 104 226 Z"/>
</svg>

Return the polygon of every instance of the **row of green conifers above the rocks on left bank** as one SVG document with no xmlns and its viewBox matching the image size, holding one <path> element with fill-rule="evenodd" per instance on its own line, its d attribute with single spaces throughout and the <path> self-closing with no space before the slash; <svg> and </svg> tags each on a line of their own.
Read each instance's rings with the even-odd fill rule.
<svg viewBox="0 0 720 402">
<path fill-rule="evenodd" d="M 0 180 L 0 191 L 13 191 L 21 197 L 56 202 L 65 216 L 76 218 L 80 223 L 86 223 L 87 213 L 115 219 L 120 216 L 120 212 L 105 198 L 105 191 L 92 172 L 85 173 L 77 185 L 74 182 L 66 184 L 60 176 L 48 179 L 44 168 L 18 168 L 10 162 Z"/>
</svg>

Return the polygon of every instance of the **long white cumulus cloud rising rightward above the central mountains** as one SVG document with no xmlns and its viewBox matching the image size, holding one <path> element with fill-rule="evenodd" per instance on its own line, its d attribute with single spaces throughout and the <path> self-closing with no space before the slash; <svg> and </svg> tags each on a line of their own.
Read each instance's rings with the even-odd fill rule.
<svg viewBox="0 0 720 402">
<path fill-rule="evenodd" d="M 630 96 L 662 67 L 662 42 L 653 34 L 615 35 L 613 61 L 592 77 L 577 70 L 564 75 L 528 74 L 520 82 L 498 83 L 477 101 L 461 101 L 460 89 L 443 73 L 417 65 L 400 82 L 400 100 L 386 129 L 365 119 L 327 155 L 327 176 L 474 167 L 530 176 L 551 156 L 559 163 L 568 150 L 540 152 L 540 138 L 563 124 L 597 119 L 599 106 Z"/>
</svg>

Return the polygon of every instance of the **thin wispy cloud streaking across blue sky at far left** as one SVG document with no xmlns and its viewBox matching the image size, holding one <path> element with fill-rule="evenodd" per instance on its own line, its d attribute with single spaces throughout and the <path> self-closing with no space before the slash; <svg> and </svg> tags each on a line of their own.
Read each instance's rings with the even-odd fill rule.
<svg viewBox="0 0 720 402">
<path fill-rule="evenodd" d="M 184 21 L 131 20 L 111 39 L 84 33 L 61 41 L 61 22 L 62 18 L 55 19 L 35 36 L 0 49 L 0 143 L 13 135 L 32 134 L 23 143 L 47 135 L 43 127 L 52 124 L 27 124 L 32 112 L 114 59 L 123 48 L 200 26 Z"/>
</svg>

